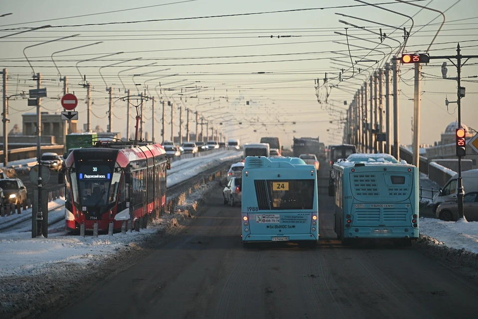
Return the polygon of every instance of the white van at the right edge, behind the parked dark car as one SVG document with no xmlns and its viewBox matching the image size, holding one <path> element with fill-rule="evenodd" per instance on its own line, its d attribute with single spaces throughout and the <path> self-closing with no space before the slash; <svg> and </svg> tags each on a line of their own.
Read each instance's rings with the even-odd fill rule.
<svg viewBox="0 0 478 319">
<path fill-rule="evenodd" d="M 470 169 L 462 172 L 463 191 L 465 193 L 478 191 L 478 169 Z M 433 197 L 432 207 L 435 211 L 441 203 L 457 200 L 458 194 L 458 173 L 440 189 L 440 192 Z"/>
</svg>

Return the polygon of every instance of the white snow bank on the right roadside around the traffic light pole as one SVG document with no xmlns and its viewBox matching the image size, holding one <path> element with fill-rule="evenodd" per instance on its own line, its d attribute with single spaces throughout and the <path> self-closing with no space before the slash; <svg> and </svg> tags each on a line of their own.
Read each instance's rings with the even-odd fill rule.
<svg viewBox="0 0 478 319">
<path fill-rule="evenodd" d="M 437 244 L 465 249 L 478 254 L 478 222 L 457 222 L 420 217 L 420 234 L 432 237 Z"/>
</svg>

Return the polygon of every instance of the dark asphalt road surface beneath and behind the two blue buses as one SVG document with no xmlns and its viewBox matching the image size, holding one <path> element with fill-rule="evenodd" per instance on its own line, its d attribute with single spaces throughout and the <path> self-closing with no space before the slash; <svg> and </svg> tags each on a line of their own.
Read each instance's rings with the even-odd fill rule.
<svg viewBox="0 0 478 319">
<path fill-rule="evenodd" d="M 323 190 L 315 250 L 243 248 L 240 208 L 218 187 L 189 225 L 49 318 L 476 318 L 476 279 L 413 248 L 342 246 Z"/>
</svg>

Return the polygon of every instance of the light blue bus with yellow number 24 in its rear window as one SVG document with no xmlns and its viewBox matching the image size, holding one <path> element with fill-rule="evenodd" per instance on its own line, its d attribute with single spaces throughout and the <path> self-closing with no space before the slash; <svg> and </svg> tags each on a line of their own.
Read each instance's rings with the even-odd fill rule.
<svg viewBox="0 0 478 319">
<path fill-rule="evenodd" d="M 247 157 L 242 170 L 242 243 L 319 240 L 317 172 L 298 158 Z"/>
</svg>

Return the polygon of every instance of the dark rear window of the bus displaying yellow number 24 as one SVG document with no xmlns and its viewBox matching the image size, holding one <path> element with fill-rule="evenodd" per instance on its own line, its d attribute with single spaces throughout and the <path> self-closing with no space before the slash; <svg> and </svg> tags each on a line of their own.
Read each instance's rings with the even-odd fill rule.
<svg viewBox="0 0 478 319">
<path fill-rule="evenodd" d="M 312 209 L 314 179 L 267 180 L 271 210 Z M 259 194 L 259 192 L 256 193 Z"/>
</svg>

